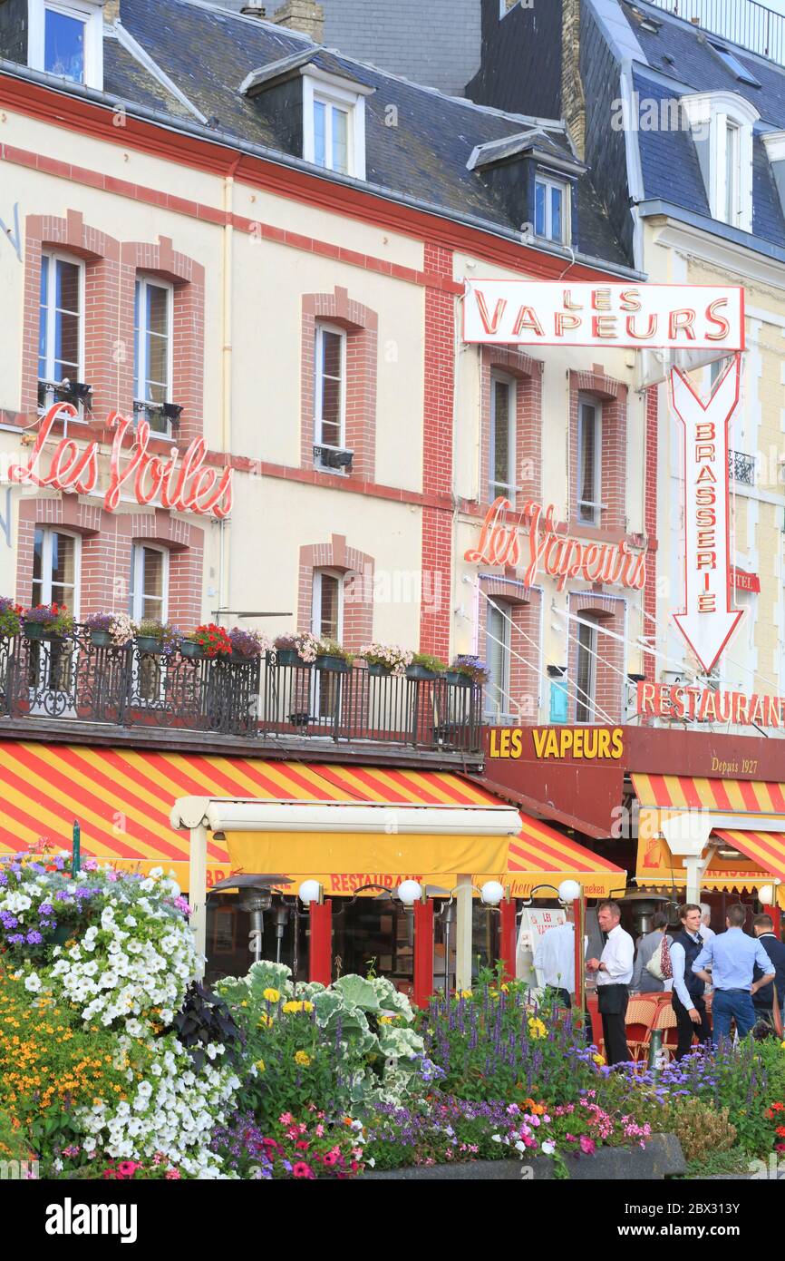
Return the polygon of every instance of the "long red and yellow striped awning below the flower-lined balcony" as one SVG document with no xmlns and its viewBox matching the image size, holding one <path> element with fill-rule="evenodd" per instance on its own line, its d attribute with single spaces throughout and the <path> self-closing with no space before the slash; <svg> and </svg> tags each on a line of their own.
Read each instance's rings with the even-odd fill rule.
<svg viewBox="0 0 785 1261">
<path fill-rule="evenodd" d="M 169 822 L 173 802 L 183 796 L 498 805 L 493 793 L 449 772 L 5 740 L 0 741 L 0 856 L 35 849 L 42 839 L 71 849 L 76 818 L 84 856 L 139 871 L 164 866 L 186 889 L 189 837 Z M 270 870 L 290 874 L 285 860 Z M 226 841 L 210 835 L 208 886 L 231 874 Z M 428 871 L 309 874 L 335 894 L 352 894 L 370 881 L 392 888 L 408 875 L 431 878 Z M 455 883 L 454 876 L 442 863 L 433 883 L 447 884 L 451 878 Z M 507 870 L 474 875 L 478 885 L 488 879 L 500 879 L 513 897 L 527 897 L 537 884 L 558 885 L 564 879 L 578 880 L 587 897 L 607 897 L 626 883 L 620 868 L 527 816 L 522 816 L 520 835 L 509 844 Z"/>
</svg>

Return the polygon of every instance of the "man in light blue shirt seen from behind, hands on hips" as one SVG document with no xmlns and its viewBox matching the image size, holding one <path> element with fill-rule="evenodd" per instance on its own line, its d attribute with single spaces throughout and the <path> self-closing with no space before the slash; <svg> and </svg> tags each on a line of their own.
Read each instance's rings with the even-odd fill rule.
<svg viewBox="0 0 785 1261">
<path fill-rule="evenodd" d="M 756 1021 L 752 994 L 775 977 L 774 965 L 761 943 L 742 931 L 746 918 L 746 907 L 728 907 L 725 919 L 727 932 L 717 933 L 707 942 L 692 965 L 696 976 L 714 986 L 712 1016 L 716 1043 L 731 1037 L 733 1019 L 740 1038 L 750 1033 Z M 761 970 L 761 979 L 753 982 L 756 963 Z M 706 972 L 709 965 L 711 976 Z"/>
</svg>

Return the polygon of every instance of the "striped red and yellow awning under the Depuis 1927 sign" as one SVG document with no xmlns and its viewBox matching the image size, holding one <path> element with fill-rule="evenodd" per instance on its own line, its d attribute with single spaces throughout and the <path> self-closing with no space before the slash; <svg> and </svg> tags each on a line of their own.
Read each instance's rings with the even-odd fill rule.
<svg viewBox="0 0 785 1261">
<path fill-rule="evenodd" d="M 738 850 L 747 861 L 713 854 L 701 881 L 703 888 L 755 893 L 775 876 L 782 881 L 777 893 L 785 907 L 785 783 L 644 774 L 633 774 L 631 779 L 640 802 L 638 884 L 685 884 L 683 861 L 670 854 L 659 835 L 660 823 L 670 815 L 703 810 L 709 820 L 712 815 L 736 815 L 750 825 L 712 828 L 711 840 Z M 764 820 L 769 825 L 781 820 L 781 831 L 756 828 L 756 822 Z"/>
</svg>

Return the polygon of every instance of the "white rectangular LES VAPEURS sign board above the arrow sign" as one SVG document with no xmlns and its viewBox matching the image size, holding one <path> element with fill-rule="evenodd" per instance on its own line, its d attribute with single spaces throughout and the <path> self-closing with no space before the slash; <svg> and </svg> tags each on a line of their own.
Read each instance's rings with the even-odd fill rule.
<svg viewBox="0 0 785 1261">
<path fill-rule="evenodd" d="M 467 280 L 464 340 L 743 351 L 737 285 L 604 285 Z"/>
</svg>

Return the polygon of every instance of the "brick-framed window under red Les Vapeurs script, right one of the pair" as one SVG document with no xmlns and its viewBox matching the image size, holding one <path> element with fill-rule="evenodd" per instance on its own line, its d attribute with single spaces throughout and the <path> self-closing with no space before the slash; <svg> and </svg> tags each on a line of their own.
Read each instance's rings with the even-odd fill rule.
<svg viewBox="0 0 785 1261">
<path fill-rule="evenodd" d="M 568 622 L 570 706 L 576 723 L 621 721 L 625 609 L 624 600 L 596 595 L 592 591 L 572 593 L 570 596 L 570 613 L 597 627 L 592 634 L 587 627 L 582 627 L 572 618 Z M 614 633 L 604 634 L 604 629 Z M 588 692 L 588 697 L 583 692 Z"/>
</svg>

